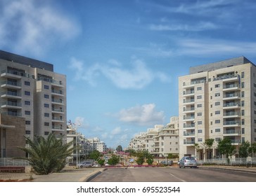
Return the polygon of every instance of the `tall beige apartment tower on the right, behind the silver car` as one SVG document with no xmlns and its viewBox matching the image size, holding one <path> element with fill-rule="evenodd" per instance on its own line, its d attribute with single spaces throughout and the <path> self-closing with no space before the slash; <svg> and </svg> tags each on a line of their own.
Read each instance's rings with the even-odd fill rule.
<svg viewBox="0 0 256 196">
<path fill-rule="evenodd" d="M 187 76 L 179 77 L 179 130 L 180 157 L 219 157 L 217 141 L 224 137 L 230 137 L 237 148 L 243 141 L 255 142 L 255 64 L 237 57 L 191 67 Z M 206 157 L 207 139 L 215 142 Z"/>
</svg>

